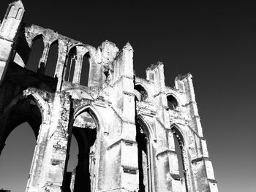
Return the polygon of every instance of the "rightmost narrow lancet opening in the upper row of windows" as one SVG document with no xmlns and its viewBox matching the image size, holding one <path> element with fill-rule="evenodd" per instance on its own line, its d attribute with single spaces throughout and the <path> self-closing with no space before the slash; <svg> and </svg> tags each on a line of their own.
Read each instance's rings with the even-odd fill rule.
<svg viewBox="0 0 256 192">
<path fill-rule="evenodd" d="M 90 70 L 90 54 L 87 52 L 83 56 L 83 64 L 82 64 L 82 70 L 81 70 L 81 77 L 80 77 L 80 85 L 88 86 L 89 82 L 89 70 Z"/>
</svg>

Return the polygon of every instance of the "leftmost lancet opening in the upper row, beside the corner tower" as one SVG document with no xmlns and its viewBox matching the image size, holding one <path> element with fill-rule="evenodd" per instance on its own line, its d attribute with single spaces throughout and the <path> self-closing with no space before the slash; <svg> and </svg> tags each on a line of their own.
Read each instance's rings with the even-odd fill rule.
<svg viewBox="0 0 256 192">
<path fill-rule="evenodd" d="M 26 64 L 26 69 L 29 69 L 33 72 L 37 72 L 40 58 L 42 57 L 42 53 L 44 50 L 44 42 L 42 40 L 42 35 L 37 36 L 33 39 L 32 48 L 29 55 L 28 64 Z"/>
</svg>

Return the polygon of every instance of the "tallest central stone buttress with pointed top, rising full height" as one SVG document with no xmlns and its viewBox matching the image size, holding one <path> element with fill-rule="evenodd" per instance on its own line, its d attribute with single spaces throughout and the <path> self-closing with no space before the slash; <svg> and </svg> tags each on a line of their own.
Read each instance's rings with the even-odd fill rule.
<svg viewBox="0 0 256 192">
<path fill-rule="evenodd" d="M 116 164 L 112 165 L 115 184 L 109 185 L 105 190 L 116 192 L 138 191 L 139 188 L 132 57 L 132 47 L 127 43 L 113 64 L 116 70 L 112 74 L 114 85 L 110 99 L 113 110 L 120 118 L 118 123 L 120 132 L 112 139 L 107 154 L 113 161 L 116 159 Z"/>
</svg>

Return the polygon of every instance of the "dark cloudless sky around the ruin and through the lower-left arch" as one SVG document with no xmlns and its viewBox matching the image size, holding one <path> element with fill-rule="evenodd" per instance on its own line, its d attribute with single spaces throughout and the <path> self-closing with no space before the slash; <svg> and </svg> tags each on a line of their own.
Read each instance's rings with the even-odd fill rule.
<svg viewBox="0 0 256 192">
<path fill-rule="evenodd" d="M 10 2 L 1 0 L 0 18 Z M 178 74 L 191 72 L 219 191 L 255 192 L 256 3 L 24 0 L 23 4 L 28 24 L 51 28 L 95 47 L 106 39 L 119 49 L 130 42 L 140 77 L 157 61 L 165 65 L 169 86 Z M 10 160 L 21 165 L 20 158 L 8 153 L 12 150 L 8 145 L 24 146 L 20 150 L 28 154 L 31 163 L 35 141 L 33 137 L 32 152 L 24 149 L 30 142 L 28 137 L 33 136 L 24 127 L 13 131 L 7 140 L 0 158 L 0 188 L 14 187 L 14 176 L 8 173 L 14 169 Z M 25 134 L 26 139 L 18 138 Z M 17 154 L 18 150 L 13 150 Z M 9 160 L 4 160 L 4 155 Z M 29 168 L 24 171 L 23 167 L 15 172 L 27 177 Z M 7 177 L 12 183 L 4 180 Z M 26 180 L 22 185 L 25 188 Z"/>
</svg>

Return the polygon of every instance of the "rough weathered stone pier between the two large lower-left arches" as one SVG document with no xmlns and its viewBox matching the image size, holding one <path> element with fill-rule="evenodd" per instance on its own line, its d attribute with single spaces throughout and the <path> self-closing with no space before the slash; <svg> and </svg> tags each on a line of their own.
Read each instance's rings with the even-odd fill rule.
<svg viewBox="0 0 256 192">
<path fill-rule="evenodd" d="M 70 101 L 67 93 L 56 93 L 51 116 L 48 174 L 45 191 L 61 192 L 67 160 Z"/>
</svg>

